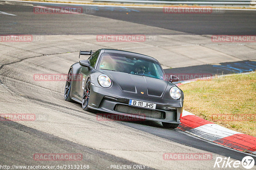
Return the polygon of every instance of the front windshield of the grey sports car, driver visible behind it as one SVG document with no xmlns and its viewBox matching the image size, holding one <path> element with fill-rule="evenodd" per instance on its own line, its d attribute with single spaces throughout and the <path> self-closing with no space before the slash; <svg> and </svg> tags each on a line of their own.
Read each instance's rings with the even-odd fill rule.
<svg viewBox="0 0 256 170">
<path fill-rule="evenodd" d="M 99 68 L 166 80 L 164 71 L 157 61 L 132 55 L 103 53 Z"/>
</svg>

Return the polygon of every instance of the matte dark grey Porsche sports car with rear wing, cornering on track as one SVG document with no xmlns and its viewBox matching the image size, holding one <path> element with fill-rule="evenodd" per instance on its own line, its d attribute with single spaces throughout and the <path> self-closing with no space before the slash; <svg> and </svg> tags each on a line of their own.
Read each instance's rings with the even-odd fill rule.
<svg viewBox="0 0 256 170">
<path fill-rule="evenodd" d="M 179 78 L 171 75 L 167 80 L 156 59 L 114 49 L 80 51 L 80 55 L 90 57 L 69 68 L 66 101 L 81 103 L 86 111 L 143 117 L 167 128 L 178 127 L 184 95 L 172 82 Z"/>
</svg>

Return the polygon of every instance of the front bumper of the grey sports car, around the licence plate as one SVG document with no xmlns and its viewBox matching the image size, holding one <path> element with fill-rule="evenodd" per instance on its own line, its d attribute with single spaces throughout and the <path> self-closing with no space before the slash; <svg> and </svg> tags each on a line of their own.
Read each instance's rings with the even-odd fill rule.
<svg viewBox="0 0 256 170">
<path fill-rule="evenodd" d="M 129 106 L 129 99 L 156 103 L 156 110 L 140 109 Z M 103 89 L 92 85 L 88 107 L 94 110 L 130 117 L 138 117 L 138 115 L 141 115 L 141 117 L 145 120 L 180 124 L 183 101 L 172 101 L 161 99 L 159 97 L 124 93 L 121 91 L 114 91 L 105 88 Z M 127 109 L 125 110 L 125 108 Z M 132 112 L 133 114 L 131 114 Z M 140 112 L 143 114 L 140 114 Z"/>
</svg>

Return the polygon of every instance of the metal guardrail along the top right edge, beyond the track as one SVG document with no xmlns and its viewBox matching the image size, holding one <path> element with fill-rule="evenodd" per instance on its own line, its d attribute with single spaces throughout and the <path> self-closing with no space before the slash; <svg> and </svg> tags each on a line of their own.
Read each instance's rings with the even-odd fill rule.
<svg viewBox="0 0 256 170">
<path fill-rule="evenodd" d="M 93 2 L 112 2 L 122 4 L 188 4 L 188 5 L 212 5 L 212 6 L 235 6 L 256 7 L 256 0 L 93 0 Z"/>
</svg>

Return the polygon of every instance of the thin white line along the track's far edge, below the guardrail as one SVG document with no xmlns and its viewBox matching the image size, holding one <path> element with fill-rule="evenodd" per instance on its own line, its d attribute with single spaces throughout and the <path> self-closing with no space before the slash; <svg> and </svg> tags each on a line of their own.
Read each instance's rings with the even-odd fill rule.
<svg viewBox="0 0 256 170">
<path fill-rule="evenodd" d="M 4 0 L 4 1 L 13 1 L 13 0 Z M 56 3 L 56 2 L 38 2 L 38 1 L 13 1 L 13 2 L 26 2 L 26 3 L 38 3 L 38 4 L 63 4 L 63 5 L 79 5 L 79 6 L 101 6 L 101 7 L 126 7 L 126 8 L 163 8 L 159 6 L 129 6 L 129 5 L 98 5 L 98 4 L 76 4 L 76 3 Z M 83 3 L 83 1 L 81 1 Z M 185 7 L 179 7 L 179 8 L 185 8 Z M 212 9 L 218 9 L 218 10 L 235 10 L 235 11 L 256 11 L 256 9 L 236 9 L 236 8 L 215 8 Z"/>
</svg>

